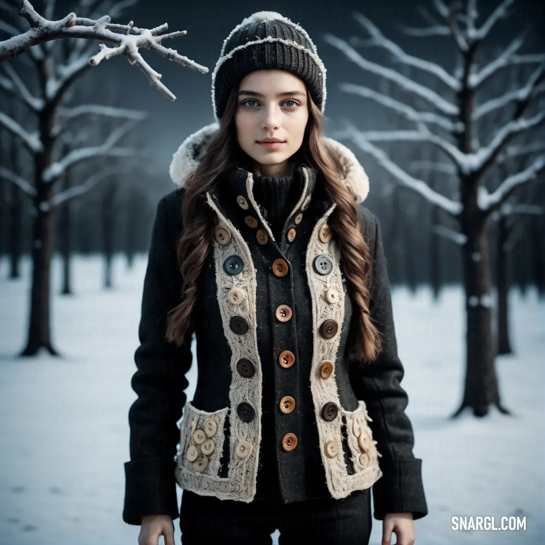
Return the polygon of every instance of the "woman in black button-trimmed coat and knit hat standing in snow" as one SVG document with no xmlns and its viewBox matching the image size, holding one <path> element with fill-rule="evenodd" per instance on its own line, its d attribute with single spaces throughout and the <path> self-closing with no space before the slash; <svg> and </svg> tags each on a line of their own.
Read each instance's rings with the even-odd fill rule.
<svg viewBox="0 0 545 545">
<path fill-rule="evenodd" d="M 276 528 L 283 545 L 364 545 L 371 487 L 383 543 L 414 543 L 427 514 L 380 229 L 364 170 L 322 137 L 325 96 L 304 29 L 253 14 L 213 73 L 219 123 L 174 154 L 129 412 L 123 519 L 141 545 L 174 544 L 176 483 L 184 545 Z"/>
</svg>

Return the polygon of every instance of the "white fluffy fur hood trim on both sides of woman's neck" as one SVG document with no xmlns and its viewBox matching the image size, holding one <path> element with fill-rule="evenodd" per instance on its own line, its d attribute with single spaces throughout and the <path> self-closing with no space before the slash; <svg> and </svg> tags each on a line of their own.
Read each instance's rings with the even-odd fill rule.
<svg viewBox="0 0 545 545">
<path fill-rule="evenodd" d="M 184 186 L 187 175 L 197 168 L 208 142 L 218 129 L 218 123 L 204 126 L 188 136 L 172 155 L 172 162 L 168 172 L 172 181 L 179 187 Z M 369 179 L 364 167 L 360 165 L 352 151 L 340 142 L 332 138 L 324 138 L 323 142 L 328 150 L 340 160 L 343 167 L 343 181 L 350 193 L 357 202 L 365 201 L 369 193 Z"/>
</svg>

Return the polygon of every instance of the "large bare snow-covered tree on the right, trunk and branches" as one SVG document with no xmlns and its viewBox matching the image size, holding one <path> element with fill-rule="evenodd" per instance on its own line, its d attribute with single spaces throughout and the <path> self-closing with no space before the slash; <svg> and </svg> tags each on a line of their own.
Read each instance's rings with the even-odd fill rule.
<svg viewBox="0 0 545 545">
<path fill-rule="evenodd" d="M 462 243 L 462 267 L 466 308 L 466 374 L 462 402 L 453 416 L 469 407 L 476 416 L 488 413 L 495 405 L 508 413 L 501 402 L 495 373 L 495 344 L 492 334 L 492 296 L 490 294 L 490 263 L 487 245 L 487 223 L 496 210 L 519 188 L 530 183 L 545 168 L 545 150 L 522 171 L 508 176 L 501 185 L 489 193 L 483 184 L 485 175 L 498 160 L 498 156 L 518 135 L 543 124 L 545 110 L 533 110 L 536 99 L 545 91 L 545 54 L 518 54 L 525 36 L 514 39 L 492 62 L 479 66 L 477 52 L 491 29 L 507 16 L 514 0 L 503 0 L 482 25 L 477 28 L 477 2 L 467 0 L 465 13 L 453 0 L 447 6 L 443 0 L 433 0 L 440 22 L 427 14 L 426 28 L 405 28 L 414 37 L 445 36 L 455 41 L 460 62 L 459 70 L 452 75 L 436 63 L 405 53 L 401 47 L 384 36 L 365 16 L 355 14 L 355 19 L 367 30 L 374 45 L 389 52 L 397 62 L 421 70 L 427 77 L 435 77 L 445 88 L 437 93 L 424 84 L 364 58 L 346 40 L 328 34 L 329 44 L 343 52 L 360 68 L 387 78 L 410 94 L 420 96 L 431 106 L 431 111 L 419 111 L 393 100 L 375 90 L 345 83 L 341 88 L 378 104 L 395 110 L 415 123 L 415 130 L 361 131 L 352 123 L 340 136 L 351 138 L 361 150 L 371 154 L 381 166 L 395 175 L 400 183 L 410 187 L 429 202 L 440 207 L 457 220 L 460 232 L 452 233 L 453 240 Z M 520 88 L 490 100 L 476 102 L 485 84 L 499 70 L 527 64 L 536 66 L 528 81 Z M 496 128 L 489 142 L 481 146 L 475 142 L 476 127 L 482 118 L 499 108 L 512 108 L 510 120 Z M 446 197 L 432 189 L 425 181 L 417 179 L 394 162 L 376 142 L 428 143 L 441 150 L 456 169 L 459 199 Z"/>
</svg>

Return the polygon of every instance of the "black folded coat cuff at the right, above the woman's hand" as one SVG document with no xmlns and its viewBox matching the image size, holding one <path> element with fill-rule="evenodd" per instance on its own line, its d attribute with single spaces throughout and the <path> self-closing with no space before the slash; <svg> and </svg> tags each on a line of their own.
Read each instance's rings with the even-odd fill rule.
<svg viewBox="0 0 545 545">
<path fill-rule="evenodd" d="M 380 462 L 382 477 L 373 485 L 374 518 L 386 513 L 413 513 L 413 519 L 428 514 L 422 484 L 422 460 L 397 458 Z"/>
</svg>

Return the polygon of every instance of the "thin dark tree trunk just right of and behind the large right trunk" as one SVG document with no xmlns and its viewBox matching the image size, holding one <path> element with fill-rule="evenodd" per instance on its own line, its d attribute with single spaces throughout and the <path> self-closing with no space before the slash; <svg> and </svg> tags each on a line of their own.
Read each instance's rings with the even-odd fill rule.
<svg viewBox="0 0 545 545">
<path fill-rule="evenodd" d="M 498 221 L 498 245 L 496 248 L 496 274 L 498 284 L 498 354 L 511 354 L 508 326 L 508 296 L 509 296 L 509 252 L 507 240 L 509 238 L 508 218 L 500 216 Z"/>
</svg>

